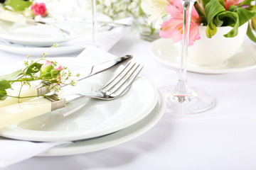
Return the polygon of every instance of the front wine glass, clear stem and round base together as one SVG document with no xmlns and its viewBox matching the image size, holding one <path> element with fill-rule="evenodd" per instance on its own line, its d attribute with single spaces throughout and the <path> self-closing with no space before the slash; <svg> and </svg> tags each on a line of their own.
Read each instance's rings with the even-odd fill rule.
<svg viewBox="0 0 256 170">
<path fill-rule="evenodd" d="M 181 0 L 183 6 L 183 38 L 181 41 L 181 68 L 178 84 L 166 86 L 162 91 L 166 94 L 167 113 L 202 113 L 215 106 L 213 96 L 202 89 L 188 86 L 186 79 L 189 26 L 191 11 L 196 0 Z"/>
</svg>

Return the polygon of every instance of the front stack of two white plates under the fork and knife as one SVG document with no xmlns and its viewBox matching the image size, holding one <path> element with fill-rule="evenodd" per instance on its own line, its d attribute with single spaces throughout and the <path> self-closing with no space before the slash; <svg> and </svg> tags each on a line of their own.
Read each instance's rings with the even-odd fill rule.
<svg viewBox="0 0 256 170">
<path fill-rule="evenodd" d="M 90 66 L 74 58 L 56 58 L 70 69 Z M 10 66 L 8 66 L 10 67 Z M 4 70 L 4 68 L 1 68 Z M 118 68 L 122 69 L 122 68 Z M 90 91 L 102 86 L 117 69 L 97 74 L 68 89 L 71 93 Z M 165 102 L 154 84 L 140 76 L 129 91 L 113 101 L 87 98 L 57 111 L 11 125 L 0 131 L 3 137 L 38 142 L 75 141 L 55 147 L 41 156 L 93 152 L 132 140 L 152 128 L 164 114 Z M 74 109 L 75 108 L 75 109 Z"/>
</svg>

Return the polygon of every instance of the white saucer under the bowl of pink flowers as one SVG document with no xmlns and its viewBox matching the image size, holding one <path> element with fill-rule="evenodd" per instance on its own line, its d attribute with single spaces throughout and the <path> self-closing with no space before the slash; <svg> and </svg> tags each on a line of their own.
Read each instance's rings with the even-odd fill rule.
<svg viewBox="0 0 256 170">
<path fill-rule="evenodd" d="M 174 47 L 171 39 L 160 38 L 149 46 L 151 55 L 170 67 L 180 68 L 181 55 Z M 188 71 L 204 74 L 224 74 L 232 72 L 242 72 L 256 68 L 255 47 L 250 42 L 245 41 L 240 50 L 231 57 L 225 64 L 216 67 L 204 67 L 192 64 L 188 60 Z"/>
</svg>

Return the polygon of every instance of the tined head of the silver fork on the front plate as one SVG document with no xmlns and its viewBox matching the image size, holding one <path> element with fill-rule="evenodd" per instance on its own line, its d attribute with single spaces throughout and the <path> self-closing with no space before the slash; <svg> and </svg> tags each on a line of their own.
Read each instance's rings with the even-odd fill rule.
<svg viewBox="0 0 256 170">
<path fill-rule="evenodd" d="M 132 85 L 133 81 L 137 79 L 137 77 L 139 76 L 139 73 L 142 72 L 143 66 L 139 64 L 137 65 L 137 67 L 134 68 L 134 65 L 131 69 L 129 69 L 129 72 L 127 72 L 125 79 L 121 79 L 116 84 L 114 84 L 114 86 L 112 86 L 111 88 L 113 89 L 112 91 L 107 91 L 107 94 L 109 96 L 111 96 L 112 94 L 114 94 L 114 96 L 120 96 L 121 94 L 124 93 L 124 91 L 126 91 L 129 88 L 129 86 Z M 130 71 L 133 68 L 134 70 L 132 71 L 132 73 L 130 73 Z"/>
</svg>

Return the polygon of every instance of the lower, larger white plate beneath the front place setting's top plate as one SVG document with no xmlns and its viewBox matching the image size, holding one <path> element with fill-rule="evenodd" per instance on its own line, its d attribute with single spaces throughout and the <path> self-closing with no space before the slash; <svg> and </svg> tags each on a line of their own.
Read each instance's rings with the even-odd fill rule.
<svg viewBox="0 0 256 170">
<path fill-rule="evenodd" d="M 151 111 L 151 113 L 149 113 L 149 115 L 146 115 L 146 117 L 140 120 L 138 123 L 103 137 L 97 137 L 90 140 L 81 140 L 69 145 L 53 147 L 38 156 L 48 157 L 82 154 L 95 152 L 122 144 L 134 139 L 135 137 L 138 137 L 139 135 L 142 135 L 144 132 L 150 130 L 154 125 L 156 125 L 156 123 L 158 123 L 164 115 L 165 106 L 166 103 L 164 102 L 164 96 L 159 94 L 159 101 L 154 109 Z"/>
</svg>

